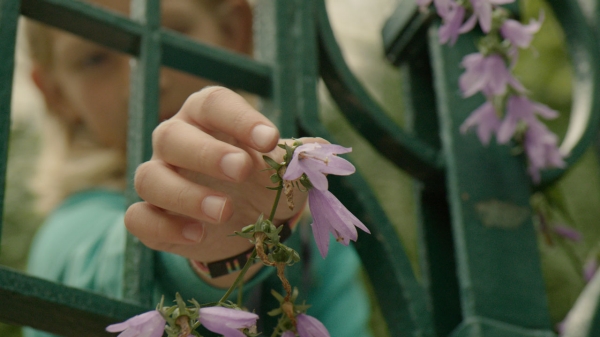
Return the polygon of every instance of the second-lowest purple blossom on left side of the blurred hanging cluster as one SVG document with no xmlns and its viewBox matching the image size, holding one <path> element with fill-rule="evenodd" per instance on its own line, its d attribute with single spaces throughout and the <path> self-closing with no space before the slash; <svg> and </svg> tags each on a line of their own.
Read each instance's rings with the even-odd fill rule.
<svg viewBox="0 0 600 337">
<path fill-rule="evenodd" d="M 486 97 L 504 95 L 508 86 L 519 93 L 525 92 L 525 87 L 512 76 L 500 55 L 472 53 L 463 58 L 461 65 L 465 72 L 459 78 L 459 86 L 464 97 L 480 91 Z"/>
</svg>

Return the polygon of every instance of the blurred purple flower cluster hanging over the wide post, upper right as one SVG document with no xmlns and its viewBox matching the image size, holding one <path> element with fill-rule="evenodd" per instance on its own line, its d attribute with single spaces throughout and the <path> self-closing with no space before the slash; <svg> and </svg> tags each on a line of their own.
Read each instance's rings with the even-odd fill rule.
<svg viewBox="0 0 600 337">
<path fill-rule="evenodd" d="M 519 49 L 529 48 L 533 34 L 541 27 L 538 20 L 522 24 L 510 19 L 500 5 L 515 0 L 417 0 L 422 10 L 432 2 L 442 18 L 439 40 L 454 44 L 458 37 L 479 24 L 486 34 L 479 52 L 464 57 L 465 73 L 459 79 L 464 97 L 481 93 L 486 102 L 461 125 L 461 132 L 477 128 L 477 136 L 487 145 L 493 135 L 499 144 L 517 141 L 527 155 L 529 174 L 540 181 L 540 170 L 564 167 L 558 150 L 558 137 L 538 119 L 553 119 L 558 113 L 527 98 L 523 85 L 511 74 Z"/>
</svg>

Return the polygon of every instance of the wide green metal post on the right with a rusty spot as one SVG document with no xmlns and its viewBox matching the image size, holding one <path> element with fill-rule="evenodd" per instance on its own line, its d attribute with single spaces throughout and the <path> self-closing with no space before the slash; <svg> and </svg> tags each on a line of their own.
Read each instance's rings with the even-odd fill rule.
<svg viewBox="0 0 600 337">
<path fill-rule="evenodd" d="M 441 46 L 438 28 L 429 29 L 429 48 L 464 317 L 452 336 L 552 336 L 524 160 L 459 132 L 484 102 L 464 99 L 458 87 L 458 65 L 478 35 Z"/>
</svg>

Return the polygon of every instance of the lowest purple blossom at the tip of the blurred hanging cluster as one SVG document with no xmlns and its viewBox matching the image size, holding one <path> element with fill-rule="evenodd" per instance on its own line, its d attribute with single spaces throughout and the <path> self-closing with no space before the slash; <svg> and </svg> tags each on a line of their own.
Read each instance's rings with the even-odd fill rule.
<svg viewBox="0 0 600 337">
<path fill-rule="evenodd" d="M 540 121 L 528 124 L 524 147 L 529 160 L 529 175 L 534 182 L 540 181 L 540 170 L 565 166 L 557 144 L 558 137 Z"/>
</svg>

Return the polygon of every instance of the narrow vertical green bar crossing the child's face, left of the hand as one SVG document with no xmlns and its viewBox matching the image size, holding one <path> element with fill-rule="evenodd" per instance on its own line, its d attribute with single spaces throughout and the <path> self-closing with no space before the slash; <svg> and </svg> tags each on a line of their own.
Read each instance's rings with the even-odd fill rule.
<svg viewBox="0 0 600 337">
<path fill-rule="evenodd" d="M 132 0 L 131 17 L 143 25 L 140 54 L 132 59 L 127 141 L 127 202 L 139 201 L 133 187 L 135 169 L 152 155 L 152 130 L 158 123 L 160 80 L 160 0 Z M 128 235 L 123 296 L 152 306 L 154 254 Z"/>
</svg>

